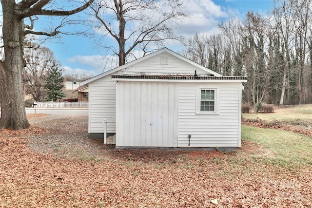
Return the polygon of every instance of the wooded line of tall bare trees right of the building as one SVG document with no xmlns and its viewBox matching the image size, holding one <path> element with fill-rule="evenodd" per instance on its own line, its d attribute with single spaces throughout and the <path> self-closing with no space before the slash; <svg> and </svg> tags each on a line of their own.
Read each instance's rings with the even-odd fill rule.
<svg viewBox="0 0 312 208">
<path fill-rule="evenodd" d="M 243 101 L 312 102 L 312 0 L 276 0 L 267 16 L 219 24 L 218 35 L 195 34 L 184 56 L 224 76 L 247 76 Z"/>
</svg>

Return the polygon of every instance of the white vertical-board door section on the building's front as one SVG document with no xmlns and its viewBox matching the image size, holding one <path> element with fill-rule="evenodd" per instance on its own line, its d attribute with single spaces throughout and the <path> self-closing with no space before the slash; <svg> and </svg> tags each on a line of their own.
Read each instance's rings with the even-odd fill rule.
<svg viewBox="0 0 312 208">
<path fill-rule="evenodd" d="M 177 85 L 116 83 L 116 147 L 177 146 Z"/>
</svg>

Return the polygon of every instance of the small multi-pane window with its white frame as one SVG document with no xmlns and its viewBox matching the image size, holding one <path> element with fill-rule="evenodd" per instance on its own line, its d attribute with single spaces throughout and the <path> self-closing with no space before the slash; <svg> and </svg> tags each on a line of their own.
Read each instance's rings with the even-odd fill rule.
<svg viewBox="0 0 312 208">
<path fill-rule="evenodd" d="M 196 86 L 196 114 L 219 113 L 218 87 Z"/>
</svg>

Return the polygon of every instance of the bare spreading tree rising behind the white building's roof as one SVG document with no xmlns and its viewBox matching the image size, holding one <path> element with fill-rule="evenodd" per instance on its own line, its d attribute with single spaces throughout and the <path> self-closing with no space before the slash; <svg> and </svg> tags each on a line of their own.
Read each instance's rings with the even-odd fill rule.
<svg viewBox="0 0 312 208">
<path fill-rule="evenodd" d="M 130 55 L 136 58 L 132 53 L 136 48 L 144 56 L 155 49 L 154 45 L 182 38 L 172 32 L 177 20 L 185 17 L 180 6 L 180 0 L 98 0 L 91 8 L 98 20 L 98 32 L 117 41 L 117 49 L 108 48 L 118 56 L 121 66 Z"/>
</svg>

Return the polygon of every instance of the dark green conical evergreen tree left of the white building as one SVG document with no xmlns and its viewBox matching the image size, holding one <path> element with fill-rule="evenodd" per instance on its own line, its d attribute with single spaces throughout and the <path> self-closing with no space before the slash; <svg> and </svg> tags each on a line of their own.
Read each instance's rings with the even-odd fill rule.
<svg viewBox="0 0 312 208">
<path fill-rule="evenodd" d="M 61 99 L 65 97 L 62 92 L 62 88 L 64 85 L 63 82 L 62 71 L 59 70 L 57 63 L 53 63 L 51 67 L 48 69 L 48 73 L 45 77 L 45 85 L 44 91 L 47 94 L 45 100 L 47 101 L 57 101 L 57 99 Z"/>
</svg>

